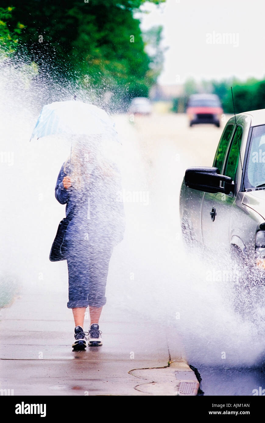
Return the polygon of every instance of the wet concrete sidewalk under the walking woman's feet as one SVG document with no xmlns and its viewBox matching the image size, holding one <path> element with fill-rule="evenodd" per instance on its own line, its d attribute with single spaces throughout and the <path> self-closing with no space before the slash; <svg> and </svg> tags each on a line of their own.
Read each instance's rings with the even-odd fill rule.
<svg viewBox="0 0 265 423">
<path fill-rule="evenodd" d="M 171 347 L 176 333 L 107 303 L 103 345 L 72 352 L 74 323 L 66 301 L 64 293 L 44 286 L 24 288 L 0 310 L 0 389 L 13 389 L 15 396 L 196 395 L 199 383 L 180 341 L 177 350 Z"/>
</svg>

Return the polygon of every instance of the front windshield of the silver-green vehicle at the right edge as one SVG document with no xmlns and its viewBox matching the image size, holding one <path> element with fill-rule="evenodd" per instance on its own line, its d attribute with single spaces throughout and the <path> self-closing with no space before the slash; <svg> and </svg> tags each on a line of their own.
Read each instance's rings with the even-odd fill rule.
<svg viewBox="0 0 265 423">
<path fill-rule="evenodd" d="M 252 187 L 265 186 L 265 125 L 254 126 L 246 168 L 247 180 Z"/>
</svg>

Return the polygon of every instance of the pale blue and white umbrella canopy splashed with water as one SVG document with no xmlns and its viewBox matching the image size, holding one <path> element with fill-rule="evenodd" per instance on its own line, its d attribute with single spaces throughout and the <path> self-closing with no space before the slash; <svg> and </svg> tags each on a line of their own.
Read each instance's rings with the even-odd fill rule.
<svg viewBox="0 0 265 423">
<path fill-rule="evenodd" d="M 44 106 L 30 140 L 61 134 L 114 136 L 117 132 L 105 110 L 93 104 L 71 100 Z"/>
</svg>

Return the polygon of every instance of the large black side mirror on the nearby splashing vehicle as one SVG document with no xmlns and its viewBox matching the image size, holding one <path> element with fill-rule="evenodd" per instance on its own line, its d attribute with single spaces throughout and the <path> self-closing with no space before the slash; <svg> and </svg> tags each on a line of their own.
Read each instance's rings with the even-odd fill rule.
<svg viewBox="0 0 265 423">
<path fill-rule="evenodd" d="M 192 190 L 204 192 L 233 192 L 232 178 L 219 174 L 218 168 L 188 168 L 185 172 L 185 185 Z M 225 181 L 225 187 L 220 187 L 220 181 Z"/>
</svg>

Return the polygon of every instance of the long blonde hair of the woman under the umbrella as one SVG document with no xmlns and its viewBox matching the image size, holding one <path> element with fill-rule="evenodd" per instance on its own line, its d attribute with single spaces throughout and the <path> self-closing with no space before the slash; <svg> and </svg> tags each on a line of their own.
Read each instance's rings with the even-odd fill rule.
<svg viewBox="0 0 265 423">
<path fill-rule="evenodd" d="M 86 135 L 75 138 L 72 153 L 64 163 L 64 173 L 69 174 L 72 186 L 76 190 L 82 190 L 89 182 L 89 164 L 94 163 L 97 176 L 106 178 L 113 177 L 115 165 L 103 159 L 100 151 L 101 135 Z"/>
</svg>

